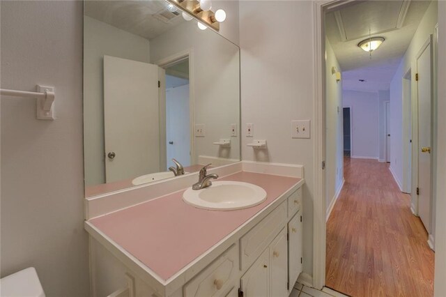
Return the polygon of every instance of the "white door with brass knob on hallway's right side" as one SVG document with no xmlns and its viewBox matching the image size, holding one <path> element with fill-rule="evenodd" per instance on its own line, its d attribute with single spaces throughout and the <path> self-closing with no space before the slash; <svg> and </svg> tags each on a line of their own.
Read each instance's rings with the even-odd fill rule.
<svg viewBox="0 0 446 297">
<path fill-rule="evenodd" d="M 431 43 L 417 57 L 418 97 L 418 214 L 426 230 L 431 228 Z"/>
</svg>

